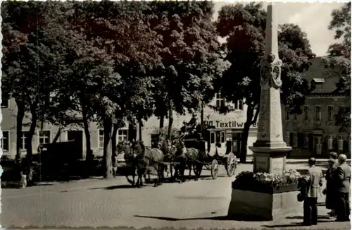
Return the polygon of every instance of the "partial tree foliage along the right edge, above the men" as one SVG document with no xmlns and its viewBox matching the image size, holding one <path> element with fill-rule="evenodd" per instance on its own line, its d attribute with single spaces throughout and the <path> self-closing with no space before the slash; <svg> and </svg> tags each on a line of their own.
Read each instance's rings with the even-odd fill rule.
<svg viewBox="0 0 352 230">
<path fill-rule="evenodd" d="M 348 104 L 351 104 L 349 97 L 351 95 L 351 2 L 332 11 L 329 30 L 335 30 L 334 38 L 336 40 L 342 39 L 342 41 L 330 45 L 329 56 L 324 61 L 327 68 L 341 76 L 337 83 L 337 91 L 345 92 Z M 341 131 L 346 131 L 351 127 L 351 106 L 338 112 L 336 124 Z"/>
</svg>

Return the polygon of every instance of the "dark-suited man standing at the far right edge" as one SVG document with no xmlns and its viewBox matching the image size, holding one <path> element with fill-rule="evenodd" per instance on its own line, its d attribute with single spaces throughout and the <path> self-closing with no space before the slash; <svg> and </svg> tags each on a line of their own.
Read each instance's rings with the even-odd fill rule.
<svg viewBox="0 0 352 230">
<path fill-rule="evenodd" d="M 339 166 L 336 169 L 337 186 L 337 222 L 349 222 L 349 193 L 351 186 L 351 167 L 346 164 L 347 157 L 339 155 Z"/>
</svg>

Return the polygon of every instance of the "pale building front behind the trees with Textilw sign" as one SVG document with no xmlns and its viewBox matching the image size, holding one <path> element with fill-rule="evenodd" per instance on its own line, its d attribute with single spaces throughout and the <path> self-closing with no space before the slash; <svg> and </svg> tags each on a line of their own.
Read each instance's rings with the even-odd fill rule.
<svg viewBox="0 0 352 230">
<path fill-rule="evenodd" d="M 225 103 L 224 99 L 220 95 L 216 95 L 213 102 L 210 104 L 214 106 L 220 106 Z M 205 107 L 203 109 L 204 121 L 212 126 L 215 126 L 214 130 L 210 133 L 210 143 L 219 142 L 225 140 L 225 138 L 232 140 L 232 150 L 234 153 L 239 151 L 239 146 L 241 145 L 241 131 L 246 121 L 246 105 L 240 101 L 236 105 L 235 111 L 228 113 L 226 115 L 218 114 L 210 107 Z M 3 99 L 1 104 L 2 122 L 1 130 L 3 132 L 3 138 L 1 138 L 1 144 L 3 146 L 3 155 L 5 157 L 14 159 L 16 152 L 16 115 L 17 106 L 14 99 Z M 198 114 L 200 117 L 200 114 Z M 189 121 L 191 119 L 191 114 L 186 114 L 184 116 L 173 116 L 173 127 L 180 129 L 183 125 L 183 121 Z M 78 121 L 79 122 L 79 121 Z M 22 145 L 20 146 L 22 155 L 26 153 L 25 141 L 27 132 L 30 128 L 30 119 L 26 116 L 23 120 L 23 135 L 22 135 Z M 41 124 L 37 124 L 37 130 L 32 139 L 33 153 L 37 153 L 37 147 L 39 144 L 51 143 L 56 135 L 58 135 L 57 141 L 68 141 L 76 140 L 82 143 L 82 153 L 85 157 L 86 154 L 86 138 L 84 135 L 84 129 L 80 123 L 71 123 L 61 129 L 59 126 L 54 126 L 50 123 L 44 123 L 43 128 Z M 165 127 L 168 127 L 168 119 L 165 119 Z M 126 122 L 124 128 L 118 130 L 118 135 L 116 137 L 117 143 L 122 140 L 132 140 L 132 138 L 142 139 L 144 143 L 148 146 L 152 145 L 153 139 L 157 138 L 157 130 L 159 128 L 159 120 L 156 117 L 151 117 L 148 121 L 144 121 L 142 128 L 142 136 L 139 136 L 139 132 L 133 130 L 129 123 Z M 103 128 L 100 128 L 97 123 L 89 124 L 89 133 L 91 136 L 91 148 L 94 155 L 103 155 Z M 253 125 L 249 132 L 248 145 L 252 145 L 256 141 L 256 125 Z M 251 151 L 249 150 L 249 154 Z"/>
</svg>

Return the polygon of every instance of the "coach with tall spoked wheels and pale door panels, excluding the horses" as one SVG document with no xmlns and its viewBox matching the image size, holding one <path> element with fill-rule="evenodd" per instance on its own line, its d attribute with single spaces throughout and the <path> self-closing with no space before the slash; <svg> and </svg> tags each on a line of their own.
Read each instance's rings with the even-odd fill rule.
<svg viewBox="0 0 352 230">
<path fill-rule="evenodd" d="M 199 150 L 201 157 L 193 160 L 209 169 L 213 179 L 218 178 L 221 164 L 225 165 L 227 176 L 234 175 L 237 159 L 232 153 L 231 140 L 226 140 L 224 131 L 216 130 L 213 126 L 202 126 L 200 133 L 188 133 L 180 138 L 183 139 L 185 147 Z M 194 167 L 194 174 L 199 176 L 202 168 Z"/>
</svg>

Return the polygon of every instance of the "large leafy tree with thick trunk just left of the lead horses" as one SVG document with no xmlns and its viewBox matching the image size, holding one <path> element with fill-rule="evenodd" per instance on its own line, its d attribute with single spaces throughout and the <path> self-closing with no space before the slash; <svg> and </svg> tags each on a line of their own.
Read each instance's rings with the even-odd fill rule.
<svg viewBox="0 0 352 230">
<path fill-rule="evenodd" d="M 73 28 L 82 31 L 85 40 L 106 56 L 100 59 L 105 67 L 92 65 L 93 69 L 100 68 L 96 73 L 89 73 L 87 66 L 80 65 L 84 75 L 91 74 L 93 85 L 92 90 L 83 95 L 96 121 L 104 128 L 106 178 L 112 176 L 111 144 L 115 147 L 115 143 L 111 141 L 115 138 L 111 140 L 111 137 L 118 128 L 125 126 L 126 119 L 142 121 L 153 111 L 148 90 L 151 87 L 149 73 L 161 65 L 160 38 L 149 28 L 149 18 L 144 15 L 147 10 L 145 2 L 76 2 L 76 13 L 70 20 L 75 23 Z"/>
</svg>

